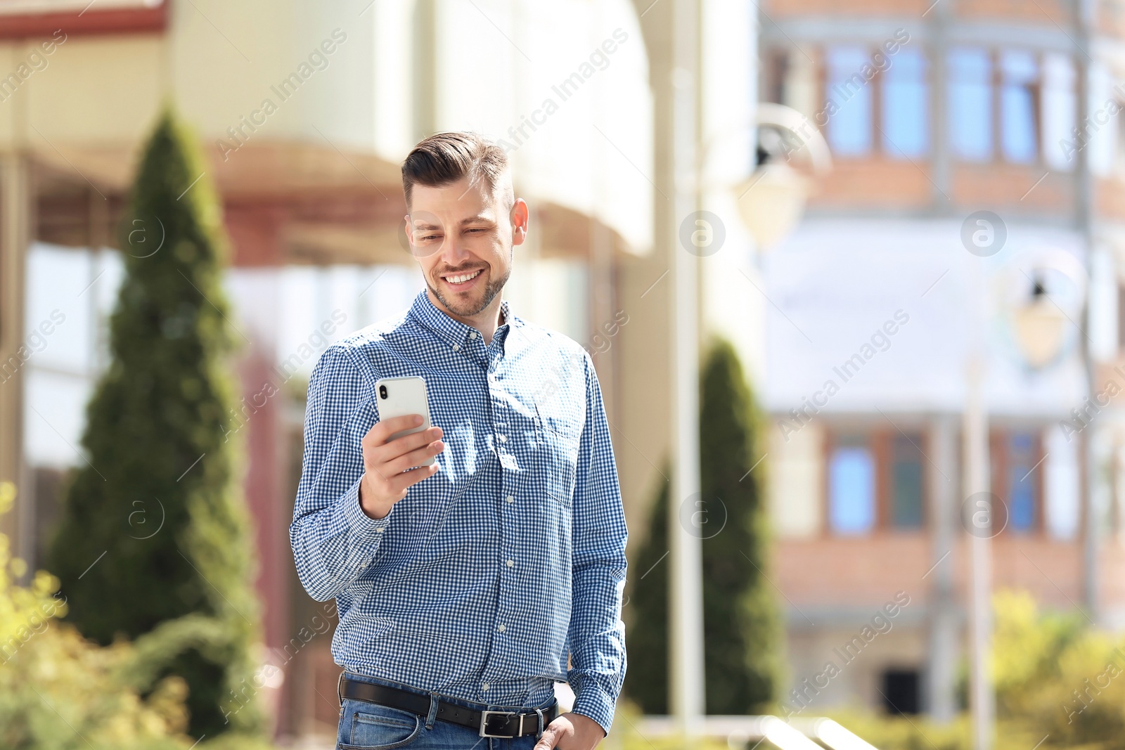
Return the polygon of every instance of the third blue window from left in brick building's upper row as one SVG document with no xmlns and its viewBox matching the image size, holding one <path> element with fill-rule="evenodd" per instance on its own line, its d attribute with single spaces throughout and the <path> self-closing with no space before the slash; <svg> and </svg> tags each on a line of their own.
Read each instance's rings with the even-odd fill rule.
<svg viewBox="0 0 1125 750">
<path fill-rule="evenodd" d="M 948 55 L 948 129 L 953 155 L 992 157 L 992 63 L 984 49 L 962 47 Z"/>
</svg>

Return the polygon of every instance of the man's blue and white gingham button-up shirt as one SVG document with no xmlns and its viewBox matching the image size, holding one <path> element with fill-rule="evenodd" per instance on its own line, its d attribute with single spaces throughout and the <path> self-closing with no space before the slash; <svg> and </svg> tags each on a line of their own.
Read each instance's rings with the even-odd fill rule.
<svg viewBox="0 0 1125 750">
<path fill-rule="evenodd" d="M 490 344 L 425 291 L 313 370 L 289 530 L 313 598 L 336 598 L 346 669 L 494 706 L 548 702 L 609 733 L 626 674 L 626 522 L 586 352 L 512 316 Z M 425 378 L 438 472 L 378 521 L 359 506 L 375 382 Z M 567 656 L 569 654 L 569 669 Z"/>
</svg>

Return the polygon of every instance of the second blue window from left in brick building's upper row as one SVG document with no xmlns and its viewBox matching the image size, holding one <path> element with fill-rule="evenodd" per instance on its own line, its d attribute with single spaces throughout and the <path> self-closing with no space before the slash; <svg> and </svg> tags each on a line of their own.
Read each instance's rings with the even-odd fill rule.
<svg viewBox="0 0 1125 750">
<path fill-rule="evenodd" d="M 883 73 L 883 153 L 892 159 L 929 152 L 929 85 L 926 58 L 902 49 Z"/>
</svg>

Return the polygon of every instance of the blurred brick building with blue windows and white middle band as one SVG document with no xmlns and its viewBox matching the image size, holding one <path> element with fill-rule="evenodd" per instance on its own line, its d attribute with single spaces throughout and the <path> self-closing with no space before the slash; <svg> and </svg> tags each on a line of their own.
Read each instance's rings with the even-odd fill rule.
<svg viewBox="0 0 1125 750">
<path fill-rule="evenodd" d="M 794 711 L 957 706 L 974 338 L 994 586 L 1125 627 L 1123 17 L 1105 1 L 762 4 L 760 98 L 814 123 L 835 165 L 762 263 Z M 1090 270 L 1089 325 L 1071 309 L 1033 368 L 1017 310 L 1043 252 Z"/>
</svg>

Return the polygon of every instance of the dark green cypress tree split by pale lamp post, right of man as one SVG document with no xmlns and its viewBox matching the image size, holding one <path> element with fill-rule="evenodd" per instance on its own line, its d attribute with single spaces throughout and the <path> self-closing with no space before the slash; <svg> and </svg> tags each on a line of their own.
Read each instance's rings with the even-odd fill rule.
<svg viewBox="0 0 1125 750">
<path fill-rule="evenodd" d="M 703 629 L 706 711 L 754 713 L 775 698 L 781 622 L 767 569 L 758 416 L 734 349 L 719 342 L 700 380 Z M 632 657 L 624 690 L 648 714 L 668 712 L 668 485 L 652 504 L 648 535 L 630 563 Z M 721 531 L 719 531 L 721 528 Z"/>
</svg>

